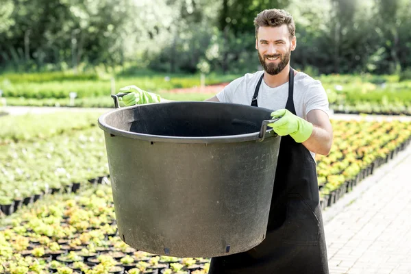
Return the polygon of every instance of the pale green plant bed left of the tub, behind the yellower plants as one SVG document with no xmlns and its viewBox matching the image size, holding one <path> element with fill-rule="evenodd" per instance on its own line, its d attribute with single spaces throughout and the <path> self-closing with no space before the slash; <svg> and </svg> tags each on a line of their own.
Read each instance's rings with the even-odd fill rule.
<svg viewBox="0 0 411 274">
<path fill-rule="evenodd" d="M 12 142 L 0 146 L 0 205 L 21 205 L 108 173 L 104 136 L 98 127 L 36 142 Z"/>
</svg>

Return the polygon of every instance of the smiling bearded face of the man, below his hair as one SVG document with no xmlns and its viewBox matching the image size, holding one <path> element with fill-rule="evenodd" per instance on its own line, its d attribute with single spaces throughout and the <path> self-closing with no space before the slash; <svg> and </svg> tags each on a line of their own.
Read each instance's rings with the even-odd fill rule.
<svg viewBox="0 0 411 274">
<path fill-rule="evenodd" d="M 258 59 L 269 75 L 277 75 L 290 62 L 291 51 L 295 49 L 295 37 L 290 40 L 286 25 L 259 27 L 256 39 Z"/>
</svg>

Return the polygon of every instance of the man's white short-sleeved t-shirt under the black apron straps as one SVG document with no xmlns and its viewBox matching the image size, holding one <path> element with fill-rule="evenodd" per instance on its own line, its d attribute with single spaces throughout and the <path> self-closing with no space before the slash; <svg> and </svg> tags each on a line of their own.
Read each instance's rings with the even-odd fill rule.
<svg viewBox="0 0 411 274">
<path fill-rule="evenodd" d="M 246 75 L 235 79 L 229 83 L 216 97 L 222 103 L 240 103 L 242 105 L 251 105 L 254 91 L 258 80 L 264 71 L 256 73 L 247 73 Z M 297 116 L 307 120 L 307 114 L 311 110 L 323 110 L 328 114 L 329 103 L 327 93 L 325 92 L 319 80 L 312 79 L 303 72 L 297 72 L 294 76 L 294 107 Z M 264 82 L 261 82 L 258 92 L 258 106 L 268 108 L 269 110 L 280 110 L 286 108 L 288 99 L 288 82 L 270 88 Z M 312 157 L 315 154 L 310 151 Z"/>
</svg>

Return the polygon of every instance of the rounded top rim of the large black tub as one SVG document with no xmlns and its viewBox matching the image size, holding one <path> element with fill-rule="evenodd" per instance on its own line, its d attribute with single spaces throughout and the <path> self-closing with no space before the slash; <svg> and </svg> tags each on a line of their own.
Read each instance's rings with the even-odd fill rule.
<svg viewBox="0 0 411 274">
<path fill-rule="evenodd" d="M 203 104 L 203 103 L 219 103 L 219 104 L 229 104 L 229 105 L 240 105 L 242 107 L 248 105 L 241 105 L 236 103 L 221 103 L 221 102 L 212 102 L 212 101 L 171 101 L 171 102 L 160 102 L 162 103 L 172 103 L 172 104 L 179 104 L 179 103 L 195 103 L 195 104 Z M 156 103 L 159 104 L 159 103 Z M 149 105 L 149 104 L 145 104 Z M 206 137 L 184 137 L 184 136 L 166 136 L 166 135 L 153 135 L 153 134 L 142 134 L 138 132 L 129 132 L 127 130 L 118 129 L 116 127 L 112 127 L 105 123 L 105 119 L 107 116 L 112 115 L 114 112 L 122 112 L 123 110 L 129 110 L 133 108 L 139 108 L 142 105 L 132 105 L 125 108 L 116 108 L 111 110 L 110 112 L 106 112 L 99 116 L 98 125 L 104 132 L 112 136 L 122 136 L 125 138 L 131 139 L 138 139 L 138 140 L 145 140 L 149 142 L 174 142 L 174 143 L 190 143 L 190 144 L 210 144 L 210 143 L 229 143 L 229 142 L 247 142 L 247 141 L 261 141 L 269 138 L 277 137 L 273 129 L 266 129 L 264 136 L 260 137 L 260 132 L 252 132 L 249 134 L 236 134 L 236 135 L 226 135 L 226 136 L 206 136 Z M 251 106 L 250 106 L 251 107 Z M 255 107 L 253 107 L 255 108 Z M 268 110 L 268 109 L 266 109 Z M 269 110 L 270 111 L 270 110 Z"/>
</svg>

